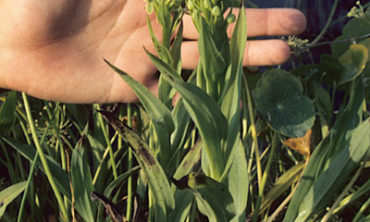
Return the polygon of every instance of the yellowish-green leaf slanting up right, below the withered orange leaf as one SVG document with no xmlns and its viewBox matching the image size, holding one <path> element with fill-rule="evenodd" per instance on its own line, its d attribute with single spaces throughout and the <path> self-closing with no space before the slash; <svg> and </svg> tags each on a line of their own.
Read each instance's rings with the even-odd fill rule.
<svg viewBox="0 0 370 222">
<path fill-rule="evenodd" d="M 287 170 L 276 180 L 269 192 L 263 197 L 259 214 L 265 212 L 265 210 L 267 210 L 278 197 L 284 194 L 295 182 L 298 181 L 304 166 L 304 163 L 299 163 Z"/>
</svg>

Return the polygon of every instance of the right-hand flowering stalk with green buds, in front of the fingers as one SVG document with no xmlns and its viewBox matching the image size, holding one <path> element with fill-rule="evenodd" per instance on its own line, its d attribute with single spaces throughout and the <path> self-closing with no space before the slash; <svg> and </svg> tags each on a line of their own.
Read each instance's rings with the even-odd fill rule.
<svg viewBox="0 0 370 222">
<path fill-rule="evenodd" d="M 230 46 L 227 26 L 235 16 L 229 11 L 231 1 L 187 0 L 186 6 L 199 32 L 200 61 L 197 85 L 218 100 L 225 83 L 225 73 L 230 63 Z"/>
</svg>

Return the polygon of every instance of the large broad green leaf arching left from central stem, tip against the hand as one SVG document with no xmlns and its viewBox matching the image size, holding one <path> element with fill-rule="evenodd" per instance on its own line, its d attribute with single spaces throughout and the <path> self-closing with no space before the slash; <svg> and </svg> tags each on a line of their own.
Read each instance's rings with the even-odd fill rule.
<svg viewBox="0 0 370 222">
<path fill-rule="evenodd" d="M 184 100 L 184 105 L 191 119 L 199 129 L 209 159 L 211 176 L 220 178 L 223 171 L 221 141 L 227 133 L 227 121 L 216 101 L 197 86 L 184 82 L 174 69 L 147 52 L 154 65 L 165 79 L 177 90 Z"/>
</svg>

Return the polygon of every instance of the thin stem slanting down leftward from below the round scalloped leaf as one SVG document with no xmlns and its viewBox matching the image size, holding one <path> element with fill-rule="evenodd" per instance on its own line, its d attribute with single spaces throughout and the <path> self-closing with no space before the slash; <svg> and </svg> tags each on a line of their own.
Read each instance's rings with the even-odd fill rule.
<svg viewBox="0 0 370 222">
<path fill-rule="evenodd" d="M 272 145 L 271 145 L 271 153 L 269 155 L 269 159 L 267 161 L 265 171 L 263 172 L 263 176 L 262 176 L 262 180 L 261 180 L 261 186 L 260 186 L 259 192 L 258 192 L 259 194 L 258 194 L 258 198 L 257 198 L 257 202 L 256 202 L 256 207 L 254 209 L 254 214 L 253 214 L 253 219 L 252 219 L 253 222 L 256 222 L 257 218 L 258 218 L 258 212 L 259 212 L 259 208 L 260 208 L 260 205 L 261 205 L 263 192 L 265 190 L 267 178 L 270 174 L 270 169 L 271 169 L 271 165 L 272 165 L 272 162 L 273 162 L 273 158 L 275 157 L 277 146 L 278 146 L 278 134 L 276 132 L 274 132 L 274 137 L 273 137 Z"/>
</svg>

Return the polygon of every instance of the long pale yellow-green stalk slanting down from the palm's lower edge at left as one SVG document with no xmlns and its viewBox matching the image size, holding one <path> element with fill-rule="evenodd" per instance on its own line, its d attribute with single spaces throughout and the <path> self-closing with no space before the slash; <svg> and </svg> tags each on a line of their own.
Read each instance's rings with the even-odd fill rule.
<svg viewBox="0 0 370 222">
<path fill-rule="evenodd" d="M 59 204 L 59 208 L 60 208 L 60 211 L 62 213 L 63 220 L 68 221 L 68 213 L 67 213 L 67 210 L 64 206 L 62 196 L 61 196 L 61 194 L 58 190 L 58 187 L 55 184 L 53 175 L 51 174 L 49 165 L 46 161 L 44 151 L 41 148 L 39 138 L 38 138 L 37 133 L 36 133 L 36 128 L 35 128 L 35 124 L 34 124 L 34 121 L 33 121 L 33 118 L 32 118 L 31 108 L 30 108 L 30 105 L 29 105 L 29 102 L 28 102 L 27 95 L 25 93 L 22 93 L 22 97 L 23 97 L 23 103 L 24 103 L 24 107 L 25 107 L 25 110 L 26 110 L 26 114 L 27 114 L 28 124 L 30 125 L 32 138 L 33 138 L 33 142 L 35 143 L 37 153 L 40 156 L 41 163 L 42 163 L 42 166 L 45 170 L 46 177 L 49 180 L 50 186 L 53 189 L 55 198 L 57 199 L 57 202 Z"/>
</svg>

